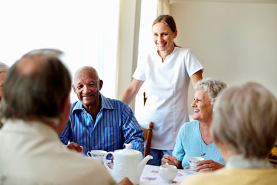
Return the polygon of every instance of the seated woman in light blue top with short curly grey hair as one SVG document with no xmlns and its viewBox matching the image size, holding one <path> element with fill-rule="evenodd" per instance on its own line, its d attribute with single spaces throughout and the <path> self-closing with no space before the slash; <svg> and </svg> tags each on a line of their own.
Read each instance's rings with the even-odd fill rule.
<svg viewBox="0 0 277 185">
<path fill-rule="evenodd" d="M 172 164 L 177 168 L 188 166 L 188 157 L 202 157 L 205 160 L 197 163 L 196 170 L 211 171 L 224 167 L 225 162 L 215 147 L 210 135 L 210 127 L 213 118 L 213 104 L 226 83 L 221 80 L 207 78 L 199 80 L 195 85 L 195 98 L 193 107 L 193 119 L 185 123 L 179 130 L 173 156 L 164 155 L 163 164 Z"/>
</svg>

